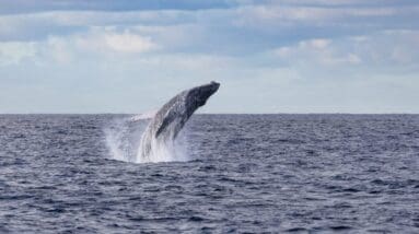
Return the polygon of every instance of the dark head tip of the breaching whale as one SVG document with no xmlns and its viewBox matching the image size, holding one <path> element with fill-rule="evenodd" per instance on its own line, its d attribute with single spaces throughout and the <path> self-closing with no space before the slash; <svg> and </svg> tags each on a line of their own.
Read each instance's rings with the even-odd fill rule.
<svg viewBox="0 0 419 234">
<path fill-rule="evenodd" d="M 220 83 L 211 81 L 209 84 L 203 84 L 189 90 L 186 97 L 188 108 L 194 109 L 193 112 L 195 112 L 195 109 L 203 106 L 207 103 L 207 100 L 214 94 L 219 87 Z"/>
</svg>

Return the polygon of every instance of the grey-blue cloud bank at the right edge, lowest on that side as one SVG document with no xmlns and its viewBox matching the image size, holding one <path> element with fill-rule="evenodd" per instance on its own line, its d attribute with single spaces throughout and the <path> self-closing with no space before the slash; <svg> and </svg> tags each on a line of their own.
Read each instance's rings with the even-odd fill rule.
<svg viewBox="0 0 419 234">
<path fill-rule="evenodd" d="M 374 66 L 375 69 L 410 66 L 419 60 L 419 31 L 383 31 L 335 39 L 314 38 L 273 50 L 288 65 Z"/>
</svg>

